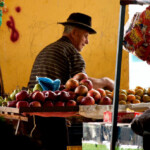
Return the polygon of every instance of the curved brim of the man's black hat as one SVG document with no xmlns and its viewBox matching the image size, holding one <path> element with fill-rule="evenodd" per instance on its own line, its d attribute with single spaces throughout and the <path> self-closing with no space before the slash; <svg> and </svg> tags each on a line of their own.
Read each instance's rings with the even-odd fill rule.
<svg viewBox="0 0 150 150">
<path fill-rule="evenodd" d="M 83 23 L 79 23 L 79 22 L 58 22 L 58 24 L 62 24 L 62 25 L 72 25 L 75 27 L 79 27 L 82 28 L 84 30 L 87 30 L 89 32 L 89 34 L 95 34 L 97 33 L 94 29 L 92 29 L 90 26 L 83 24 Z"/>
</svg>

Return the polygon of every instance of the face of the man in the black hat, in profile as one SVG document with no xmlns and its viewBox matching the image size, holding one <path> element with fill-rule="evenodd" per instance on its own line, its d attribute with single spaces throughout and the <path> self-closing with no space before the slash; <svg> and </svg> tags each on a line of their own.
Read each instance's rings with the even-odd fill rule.
<svg viewBox="0 0 150 150">
<path fill-rule="evenodd" d="M 88 40 L 89 32 L 83 29 L 74 28 L 73 31 L 73 45 L 80 52 L 83 47 L 89 43 Z"/>
</svg>

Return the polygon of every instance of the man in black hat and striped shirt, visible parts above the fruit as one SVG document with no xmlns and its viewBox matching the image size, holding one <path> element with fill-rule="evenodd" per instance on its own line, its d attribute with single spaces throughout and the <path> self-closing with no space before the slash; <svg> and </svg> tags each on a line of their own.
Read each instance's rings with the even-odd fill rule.
<svg viewBox="0 0 150 150">
<path fill-rule="evenodd" d="M 91 17 L 81 13 L 72 13 L 64 25 L 63 36 L 46 46 L 37 56 L 29 87 L 36 84 L 36 76 L 60 79 L 62 84 L 79 72 L 85 72 L 85 62 L 79 52 L 89 43 L 89 34 L 96 31 L 91 28 Z M 108 77 L 96 79 L 89 77 L 94 88 L 102 87 L 113 90 L 114 81 Z"/>
</svg>

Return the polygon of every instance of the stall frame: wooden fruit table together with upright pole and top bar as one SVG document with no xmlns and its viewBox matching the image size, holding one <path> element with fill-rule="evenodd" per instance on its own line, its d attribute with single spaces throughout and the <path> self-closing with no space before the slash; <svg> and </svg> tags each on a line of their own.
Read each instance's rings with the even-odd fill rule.
<svg viewBox="0 0 150 150">
<path fill-rule="evenodd" d="M 136 105 L 118 105 L 119 102 L 119 88 L 120 88 L 120 75 L 121 75 L 121 61 L 122 61 L 122 49 L 123 49 L 123 36 L 124 36 L 124 22 L 125 22 L 125 8 L 126 5 L 130 4 L 150 4 L 150 0 L 120 0 L 120 17 L 119 17 L 119 30 L 118 30 L 118 43 L 117 43 L 117 55 L 116 55 L 116 70 L 115 70 L 115 87 L 114 87 L 114 96 L 113 96 L 113 105 L 109 106 L 68 106 L 68 107 L 51 107 L 51 108 L 10 108 L 10 107 L 0 107 L 0 116 L 17 120 L 17 128 L 15 134 L 18 133 L 18 128 L 20 125 L 20 121 L 28 121 L 28 116 L 31 115 L 39 115 L 43 117 L 70 117 L 70 116 L 84 116 L 88 118 L 95 119 L 103 119 L 103 111 L 110 110 L 113 112 L 112 116 L 112 129 L 111 129 L 111 140 L 110 147 L 111 150 L 115 150 L 116 141 L 118 137 L 116 136 L 118 133 L 117 126 L 117 116 L 119 109 L 126 110 L 126 108 L 130 108 L 132 110 L 146 110 L 149 109 L 148 104 L 142 104 L 139 106 Z M 138 107 L 139 106 L 139 107 Z M 101 111 L 103 110 L 103 111 Z"/>
</svg>

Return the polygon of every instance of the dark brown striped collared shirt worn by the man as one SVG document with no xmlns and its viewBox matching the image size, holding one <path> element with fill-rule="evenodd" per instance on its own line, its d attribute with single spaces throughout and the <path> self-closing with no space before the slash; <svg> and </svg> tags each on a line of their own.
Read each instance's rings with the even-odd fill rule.
<svg viewBox="0 0 150 150">
<path fill-rule="evenodd" d="M 85 61 L 71 41 L 63 36 L 46 46 L 36 57 L 28 83 L 33 88 L 36 76 L 60 79 L 61 84 L 79 72 L 85 72 Z"/>
</svg>

